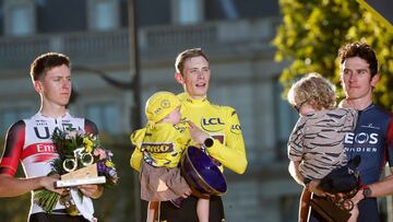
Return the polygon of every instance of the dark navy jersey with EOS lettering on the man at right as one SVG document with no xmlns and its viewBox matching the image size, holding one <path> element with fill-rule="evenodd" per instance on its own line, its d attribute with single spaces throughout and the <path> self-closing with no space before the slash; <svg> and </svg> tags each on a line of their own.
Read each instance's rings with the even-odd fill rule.
<svg viewBox="0 0 393 222">
<path fill-rule="evenodd" d="M 393 166 L 392 114 L 374 104 L 359 110 L 355 132 L 346 135 L 344 149 L 348 160 L 356 155 L 361 156 L 358 167 L 361 184 L 378 182 L 386 161 L 391 167 Z M 358 207 L 358 222 L 379 221 L 376 198 L 361 200 Z"/>
</svg>

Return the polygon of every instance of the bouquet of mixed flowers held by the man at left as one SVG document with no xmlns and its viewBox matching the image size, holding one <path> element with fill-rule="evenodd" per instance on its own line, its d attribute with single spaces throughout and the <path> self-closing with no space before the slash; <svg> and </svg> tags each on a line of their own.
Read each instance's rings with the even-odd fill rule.
<svg viewBox="0 0 393 222">
<path fill-rule="evenodd" d="M 111 161 L 112 153 L 105 150 L 97 136 L 84 133 L 82 130 L 56 129 L 51 137 L 59 156 L 51 162 L 52 171 L 48 175 L 66 175 L 96 164 L 98 176 L 105 176 L 105 185 L 112 186 L 118 182 L 117 171 Z M 95 166 L 93 166 L 95 167 Z M 80 194 L 82 196 L 82 194 Z M 41 189 L 35 191 L 34 201 L 46 212 L 51 212 L 60 200 L 69 214 L 79 213 L 72 205 L 70 195 L 60 196 L 57 192 Z"/>
</svg>

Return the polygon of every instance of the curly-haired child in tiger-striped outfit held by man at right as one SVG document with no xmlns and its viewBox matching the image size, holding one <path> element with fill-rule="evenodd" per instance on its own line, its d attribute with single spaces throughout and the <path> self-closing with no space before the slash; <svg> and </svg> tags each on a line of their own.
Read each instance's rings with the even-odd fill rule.
<svg viewBox="0 0 393 222">
<path fill-rule="evenodd" d="M 323 179 L 332 171 L 348 167 L 343 141 L 345 135 L 355 129 L 358 114 L 353 108 L 335 107 L 334 85 L 318 73 L 307 74 L 296 82 L 288 92 L 288 102 L 300 115 L 289 137 L 288 157 L 290 175 L 305 186 L 299 221 L 306 221 L 311 198 L 307 185 L 312 179 Z M 330 187 L 321 185 L 320 189 Z M 323 191 L 340 188 L 340 185 L 333 185 Z"/>
</svg>

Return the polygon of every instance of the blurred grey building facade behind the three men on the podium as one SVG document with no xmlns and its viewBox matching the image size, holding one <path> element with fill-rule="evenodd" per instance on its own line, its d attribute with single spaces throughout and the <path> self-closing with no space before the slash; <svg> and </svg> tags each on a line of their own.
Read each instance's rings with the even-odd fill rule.
<svg viewBox="0 0 393 222">
<path fill-rule="evenodd" d="M 278 1 L 136 0 L 138 50 L 130 44 L 128 3 L 0 0 L 1 138 L 12 122 L 39 108 L 28 74 L 32 60 L 47 51 L 68 55 L 73 67 L 71 113 L 97 124 L 120 171 L 121 184 L 96 202 L 97 215 L 102 221 L 138 221 L 139 182 L 128 162 L 129 135 L 140 119 L 145 122 L 144 103 L 153 92 L 182 91 L 174 80 L 177 54 L 201 47 L 211 61 L 209 97 L 237 109 L 249 161 L 245 175 L 225 172 L 227 221 L 296 221 L 300 186 L 287 173 L 286 141 L 297 114 L 282 98 L 284 63 L 274 62 L 271 44 L 281 21 Z M 140 92 L 133 81 L 135 61 Z M 24 221 L 28 201 L 28 195 L 2 199 L 0 217 Z"/>
</svg>

